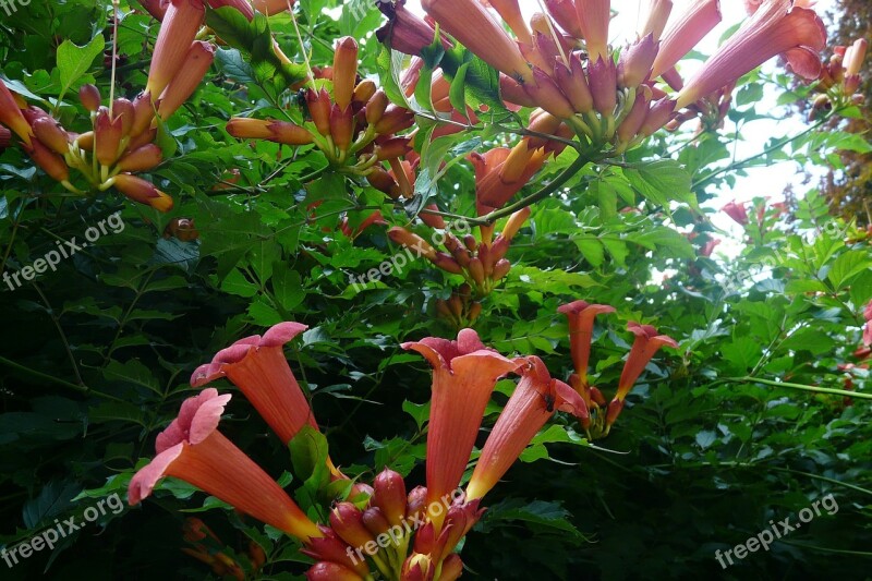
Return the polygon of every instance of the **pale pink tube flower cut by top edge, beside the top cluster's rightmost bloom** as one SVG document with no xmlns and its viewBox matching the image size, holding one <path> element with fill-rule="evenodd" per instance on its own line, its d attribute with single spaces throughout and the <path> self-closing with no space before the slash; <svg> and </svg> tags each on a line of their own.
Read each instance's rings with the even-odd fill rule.
<svg viewBox="0 0 872 581">
<path fill-rule="evenodd" d="M 678 19 L 673 19 L 666 25 L 651 78 L 656 78 L 675 66 L 719 22 L 719 0 L 691 1 Z"/>
</svg>

